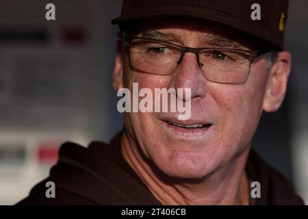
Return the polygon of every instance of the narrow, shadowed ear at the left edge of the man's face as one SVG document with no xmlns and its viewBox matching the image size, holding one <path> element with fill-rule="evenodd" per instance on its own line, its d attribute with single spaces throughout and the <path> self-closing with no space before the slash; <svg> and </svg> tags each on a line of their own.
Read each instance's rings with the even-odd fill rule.
<svg viewBox="0 0 308 219">
<path fill-rule="evenodd" d="M 113 73 L 113 87 L 114 90 L 118 91 L 120 88 L 123 88 L 123 40 L 121 33 L 118 33 L 116 39 L 116 58 L 114 64 L 114 73 Z"/>
</svg>

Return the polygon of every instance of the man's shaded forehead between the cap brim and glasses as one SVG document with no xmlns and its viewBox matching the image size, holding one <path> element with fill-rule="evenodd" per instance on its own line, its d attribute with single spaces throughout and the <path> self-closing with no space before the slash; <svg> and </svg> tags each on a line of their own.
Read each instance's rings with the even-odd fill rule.
<svg viewBox="0 0 308 219">
<path fill-rule="evenodd" d="M 146 38 L 172 41 L 179 38 L 198 36 L 203 42 L 214 46 L 257 49 L 261 42 L 236 29 L 201 21 L 194 18 L 166 17 L 151 18 L 130 23 L 125 27 L 129 34 Z"/>
</svg>

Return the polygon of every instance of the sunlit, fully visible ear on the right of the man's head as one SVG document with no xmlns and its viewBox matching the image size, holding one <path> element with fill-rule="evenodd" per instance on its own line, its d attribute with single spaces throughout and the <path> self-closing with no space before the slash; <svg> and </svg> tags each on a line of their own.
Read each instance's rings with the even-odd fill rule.
<svg viewBox="0 0 308 219">
<path fill-rule="evenodd" d="M 287 80 L 291 70 L 291 60 L 291 54 L 287 51 L 282 51 L 277 54 L 277 59 L 270 68 L 270 75 L 263 103 L 264 111 L 275 112 L 283 103 L 287 90 Z"/>
</svg>

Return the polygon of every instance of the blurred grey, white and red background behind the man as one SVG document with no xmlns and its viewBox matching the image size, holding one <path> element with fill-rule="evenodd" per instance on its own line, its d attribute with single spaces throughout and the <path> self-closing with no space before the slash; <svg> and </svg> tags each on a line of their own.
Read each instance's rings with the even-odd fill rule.
<svg viewBox="0 0 308 219">
<path fill-rule="evenodd" d="M 55 21 L 45 5 L 55 4 Z M 120 0 L 0 2 L 0 205 L 49 174 L 60 144 L 108 142 L 122 129 L 112 89 Z M 293 68 L 283 107 L 264 114 L 253 147 L 308 203 L 308 1 L 290 1 Z"/>
</svg>

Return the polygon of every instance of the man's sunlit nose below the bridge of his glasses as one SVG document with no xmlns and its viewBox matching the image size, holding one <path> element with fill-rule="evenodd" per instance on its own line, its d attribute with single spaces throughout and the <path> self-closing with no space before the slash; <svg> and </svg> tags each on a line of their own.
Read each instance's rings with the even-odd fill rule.
<svg viewBox="0 0 308 219">
<path fill-rule="evenodd" d="M 190 99 L 198 99 L 203 97 L 206 92 L 205 77 L 198 64 L 198 59 L 194 53 L 185 53 L 181 62 L 178 64 L 175 73 L 175 88 L 190 89 L 190 96 L 178 96 L 182 101 L 190 101 Z"/>
</svg>

